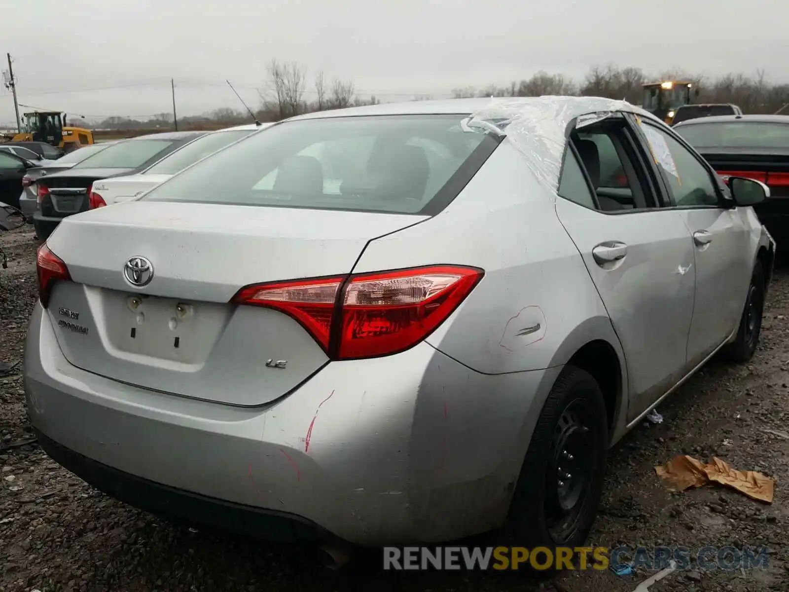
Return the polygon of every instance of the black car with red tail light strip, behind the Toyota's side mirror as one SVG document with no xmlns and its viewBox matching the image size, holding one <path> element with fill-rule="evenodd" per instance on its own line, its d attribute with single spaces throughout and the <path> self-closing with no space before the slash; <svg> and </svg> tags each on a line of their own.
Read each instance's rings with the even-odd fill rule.
<svg viewBox="0 0 789 592">
<path fill-rule="evenodd" d="M 753 209 L 780 245 L 789 242 L 789 115 L 690 119 L 675 130 L 724 178 L 756 179 L 770 197 Z"/>
</svg>

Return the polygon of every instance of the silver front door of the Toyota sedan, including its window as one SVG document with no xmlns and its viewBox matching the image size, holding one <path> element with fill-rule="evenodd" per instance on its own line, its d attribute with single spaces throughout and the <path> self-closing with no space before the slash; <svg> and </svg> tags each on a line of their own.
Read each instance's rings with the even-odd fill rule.
<svg viewBox="0 0 789 592">
<path fill-rule="evenodd" d="M 645 118 L 638 118 L 638 128 L 671 208 L 682 215 L 694 241 L 696 299 L 688 360 L 697 365 L 739 326 L 753 268 L 750 223 L 745 208 L 724 199 L 712 167 L 671 129 Z"/>
</svg>

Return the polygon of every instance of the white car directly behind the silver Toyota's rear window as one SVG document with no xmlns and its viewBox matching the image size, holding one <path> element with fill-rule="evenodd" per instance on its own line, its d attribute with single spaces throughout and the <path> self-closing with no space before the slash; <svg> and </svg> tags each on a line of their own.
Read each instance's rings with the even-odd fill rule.
<svg viewBox="0 0 789 592">
<path fill-rule="evenodd" d="M 257 125 L 252 123 L 246 126 L 219 129 L 219 131 L 207 133 L 205 136 L 189 142 L 189 144 L 166 155 L 158 163 L 151 165 L 141 173 L 95 182 L 91 192 L 91 208 L 118 204 L 122 201 L 140 197 L 146 191 L 165 182 L 186 167 L 192 166 L 198 160 L 222 150 L 222 148 L 241 140 L 241 138 L 248 136 L 250 133 L 271 125 L 273 124 L 263 123 Z"/>
</svg>

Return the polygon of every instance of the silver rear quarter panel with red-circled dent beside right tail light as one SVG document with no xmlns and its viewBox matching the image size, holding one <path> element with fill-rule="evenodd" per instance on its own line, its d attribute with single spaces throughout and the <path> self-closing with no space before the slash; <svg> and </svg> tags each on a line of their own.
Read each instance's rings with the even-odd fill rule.
<svg viewBox="0 0 789 592">
<path fill-rule="evenodd" d="M 555 199 L 561 198 L 504 141 L 443 212 L 372 241 L 353 271 L 482 268 L 484 279 L 428 343 L 486 374 L 564 364 L 587 340 L 613 332 L 578 249 L 555 215 Z"/>
</svg>

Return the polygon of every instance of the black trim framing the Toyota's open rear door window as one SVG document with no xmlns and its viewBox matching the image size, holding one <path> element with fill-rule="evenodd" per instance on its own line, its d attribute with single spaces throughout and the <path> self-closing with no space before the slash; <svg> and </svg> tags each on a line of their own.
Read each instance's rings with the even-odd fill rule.
<svg viewBox="0 0 789 592">
<path fill-rule="evenodd" d="M 654 185 L 653 178 L 649 174 L 649 170 L 645 167 L 645 163 L 641 158 L 641 143 L 638 141 L 638 137 L 634 136 L 633 131 L 631 128 L 630 120 L 626 117 L 626 114 L 621 111 L 616 111 L 614 116 L 610 118 L 601 119 L 599 122 L 595 122 L 589 124 L 589 126 L 584 126 L 581 130 L 585 129 L 595 129 L 597 126 L 611 126 L 616 127 L 619 131 L 623 132 L 623 138 L 618 137 L 616 141 L 613 141 L 614 148 L 619 155 L 620 150 L 625 152 L 627 157 L 627 164 L 623 163 L 623 167 L 630 167 L 633 168 L 632 172 L 635 174 L 637 182 L 641 185 L 641 191 L 645 193 L 645 198 L 649 198 L 649 192 L 652 192 L 651 199 L 653 200 L 653 206 L 647 206 L 646 208 L 632 208 L 632 209 L 623 209 L 623 210 L 603 210 L 600 209 L 600 201 L 597 199 L 597 192 L 592 185 L 592 178 L 589 177 L 589 172 L 586 170 L 584 166 L 583 160 L 581 159 L 580 155 L 578 154 L 578 148 L 576 148 L 574 141 L 573 141 L 573 133 L 581 132 L 576 127 L 578 118 L 574 119 L 570 122 L 570 125 L 567 126 L 567 145 L 565 147 L 565 152 L 567 152 L 567 148 L 572 150 L 575 158 L 578 160 L 578 166 L 581 167 L 581 173 L 584 175 L 584 180 L 586 182 L 586 186 L 589 189 L 589 192 L 592 193 L 594 203 L 596 204 L 596 209 L 594 212 L 603 215 L 630 215 L 630 214 L 641 214 L 641 213 L 649 213 L 649 212 L 656 212 L 657 210 L 661 209 L 660 204 L 658 201 L 660 200 L 659 191 Z M 621 159 L 621 155 L 619 156 Z M 564 162 L 565 157 L 563 156 L 562 159 L 562 167 L 559 170 L 559 183 L 561 183 L 562 174 L 564 173 Z M 640 172 L 639 172 L 640 168 Z M 646 183 L 646 185 L 645 185 Z M 561 197 L 563 200 L 571 201 L 572 203 L 581 206 L 581 208 L 586 208 L 586 206 L 578 204 L 577 201 L 570 200 L 568 197 L 563 197 L 559 195 L 559 185 L 556 187 L 557 195 Z M 589 208 L 586 208 L 589 209 Z"/>
</svg>

